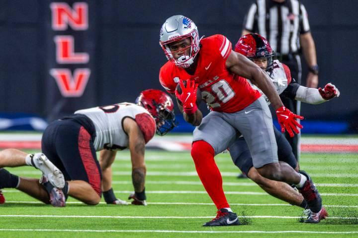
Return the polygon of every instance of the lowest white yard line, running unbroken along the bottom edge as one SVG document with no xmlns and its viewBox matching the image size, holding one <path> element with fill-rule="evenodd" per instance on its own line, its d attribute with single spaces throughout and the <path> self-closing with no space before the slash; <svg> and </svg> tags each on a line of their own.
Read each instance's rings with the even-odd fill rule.
<svg viewBox="0 0 358 238">
<path fill-rule="evenodd" d="M 97 233 L 242 233 L 242 234 L 287 234 L 287 233 L 298 233 L 298 234 L 357 234 L 358 232 L 311 232 L 311 231 L 170 231 L 170 230 L 71 230 L 71 229 L 0 229 L 0 231 L 9 232 L 97 232 Z"/>
</svg>

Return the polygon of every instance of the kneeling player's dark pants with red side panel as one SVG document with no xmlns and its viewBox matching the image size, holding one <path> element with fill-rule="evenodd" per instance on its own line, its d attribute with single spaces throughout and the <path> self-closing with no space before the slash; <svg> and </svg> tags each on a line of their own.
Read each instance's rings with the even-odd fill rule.
<svg viewBox="0 0 358 238">
<path fill-rule="evenodd" d="M 42 135 L 41 149 L 65 180 L 83 180 L 101 196 L 101 170 L 93 146 L 95 128 L 84 115 L 55 120 Z"/>
</svg>

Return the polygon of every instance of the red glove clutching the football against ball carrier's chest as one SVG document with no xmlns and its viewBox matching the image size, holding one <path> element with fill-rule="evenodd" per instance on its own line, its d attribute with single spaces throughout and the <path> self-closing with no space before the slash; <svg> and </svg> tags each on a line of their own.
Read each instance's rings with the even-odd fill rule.
<svg viewBox="0 0 358 238">
<path fill-rule="evenodd" d="M 198 85 L 190 79 L 185 80 L 186 84 L 182 80 L 179 81 L 181 88 L 181 94 L 179 94 L 178 89 L 176 89 L 176 96 L 183 105 L 184 112 L 186 114 L 194 114 L 197 110 L 196 106 L 196 91 Z"/>
</svg>

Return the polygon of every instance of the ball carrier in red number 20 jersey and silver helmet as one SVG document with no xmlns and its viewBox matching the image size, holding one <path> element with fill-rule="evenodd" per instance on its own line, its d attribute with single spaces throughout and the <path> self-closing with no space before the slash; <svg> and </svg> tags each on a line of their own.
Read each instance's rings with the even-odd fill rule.
<svg viewBox="0 0 358 238">
<path fill-rule="evenodd" d="M 282 130 L 291 135 L 302 126 L 295 115 L 283 107 L 269 76 L 251 60 L 231 50 L 223 35 L 200 39 L 192 20 L 182 15 L 168 18 L 160 30 L 160 45 L 168 58 L 160 70 L 162 86 L 175 93 L 186 121 L 196 126 L 191 156 L 198 176 L 215 203 L 217 216 L 204 226 L 240 225 L 222 188 L 222 178 L 214 156 L 228 148 L 242 134 L 250 148 L 254 167 L 267 179 L 295 184 L 315 196 L 312 207 L 321 206 L 321 197 L 311 189 L 312 181 L 278 162 L 269 107 L 260 92 L 247 82 L 251 79 L 269 98 Z M 183 81 L 186 82 L 184 85 Z M 181 94 L 176 91 L 180 83 Z M 211 112 L 202 118 L 196 107 L 196 89 Z M 238 133 L 239 132 L 239 133 Z"/>
</svg>

